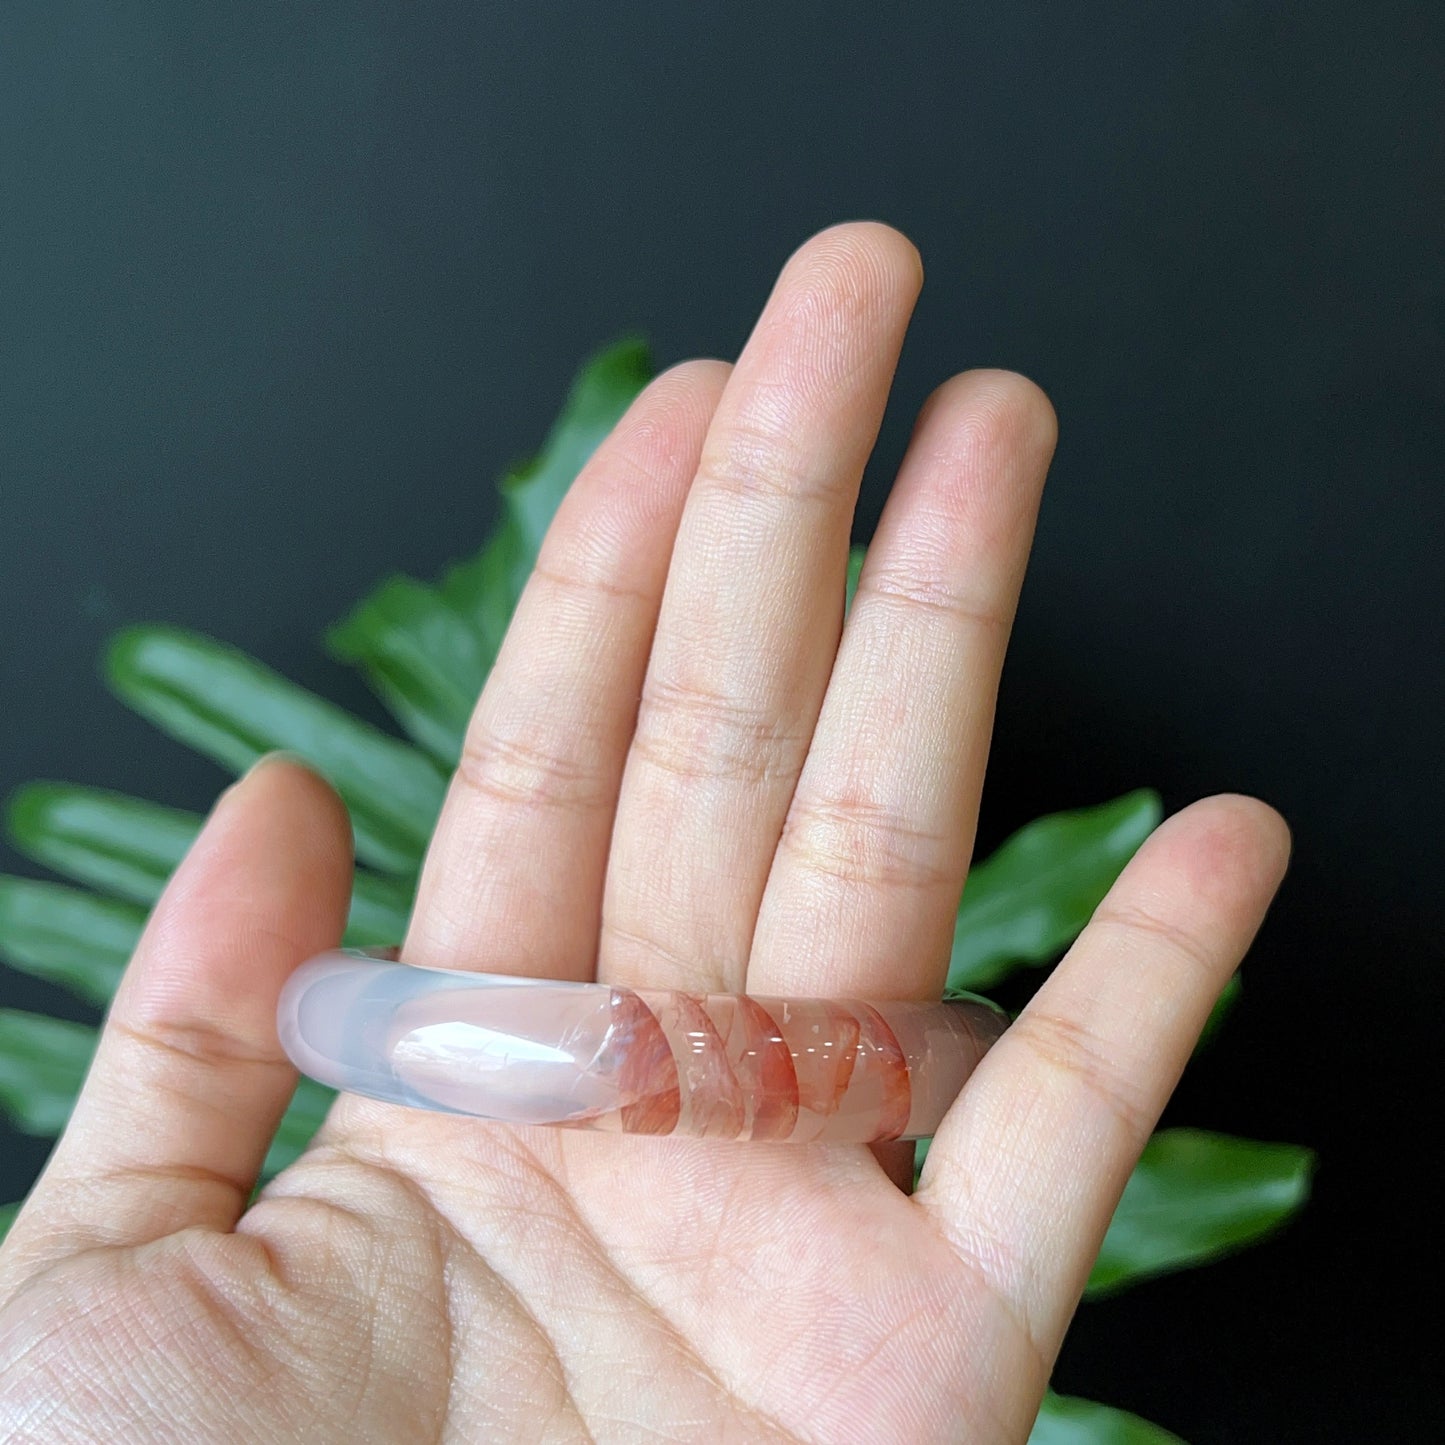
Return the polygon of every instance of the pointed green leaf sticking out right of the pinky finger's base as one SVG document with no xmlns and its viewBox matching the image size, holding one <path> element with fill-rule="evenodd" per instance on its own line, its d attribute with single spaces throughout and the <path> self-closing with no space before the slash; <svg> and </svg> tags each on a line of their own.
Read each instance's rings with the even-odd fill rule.
<svg viewBox="0 0 1445 1445">
<path fill-rule="evenodd" d="M 1166 1129 L 1144 1149 L 1090 1274 L 1090 1296 L 1253 1244 L 1309 1196 L 1314 1155 L 1198 1129 Z"/>
</svg>

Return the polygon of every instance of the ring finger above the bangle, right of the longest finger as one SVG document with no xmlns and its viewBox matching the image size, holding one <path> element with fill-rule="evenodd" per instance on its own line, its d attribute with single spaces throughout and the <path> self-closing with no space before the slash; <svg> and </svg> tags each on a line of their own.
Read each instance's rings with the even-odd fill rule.
<svg viewBox="0 0 1445 1445">
<path fill-rule="evenodd" d="M 868 548 L 753 941 L 764 994 L 938 998 L 1053 451 L 1009 371 L 925 406 Z"/>
</svg>

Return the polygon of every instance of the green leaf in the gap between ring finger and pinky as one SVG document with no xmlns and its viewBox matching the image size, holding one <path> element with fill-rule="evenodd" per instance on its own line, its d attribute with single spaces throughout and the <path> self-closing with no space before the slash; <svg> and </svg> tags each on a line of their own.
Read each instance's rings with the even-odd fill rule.
<svg viewBox="0 0 1445 1445">
<path fill-rule="evenodd" d="M 1159 827 L 1159 795 L 1140 789 L 1020 828 L 968 874 L 948 991 L 981 990 L 1020 964 L 1043 964 L 1090 920 L 1114 879 Z"/>
</svg>

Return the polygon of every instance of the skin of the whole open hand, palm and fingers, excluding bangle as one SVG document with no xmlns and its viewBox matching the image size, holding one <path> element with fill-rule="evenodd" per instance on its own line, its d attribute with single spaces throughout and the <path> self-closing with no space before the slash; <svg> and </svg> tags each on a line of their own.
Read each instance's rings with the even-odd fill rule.
<svg viewBox="0 0 1445 1445">
<path fill-rule="evenodd" d="M 656 380 L 561 509 L 471 725 L 406 957 L 936 998 L 1055 419 L 923 407 L 842 630 L 922 280 L 887 227 L 783 269 L 734 367 Z M 345 1097 L 249 1205 L 295 1084 L 277 991 L 341 933 L 345 814 L 223 795 L 0 1251 L 26 1441 L 1025 1441 L 1110 1214 L 1289 853 L 1170 818 L 899 1146 L 520 1130 Z"/>
</svg>

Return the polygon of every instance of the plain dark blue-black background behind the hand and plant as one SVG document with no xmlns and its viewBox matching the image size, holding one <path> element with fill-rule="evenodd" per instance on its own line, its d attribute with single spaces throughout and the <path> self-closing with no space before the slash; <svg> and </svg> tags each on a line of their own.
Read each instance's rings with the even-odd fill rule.
<svg viewBox="0 0 1445 1445">
<path fill-rule="evenodd" d="M 4 0 L 0 788 L 205 806 L 95 681 L 127 620 L 379 715 L 312 639 L 473 548 L 585 351 L 731 355 L 798 241 L 889 220 L 929 283 L 858 535 L 945 374 L 1062 422 L 981 844 L 1144 783 L 1296 832 L 1169 1117 L 1314 1146 L 1315 1204 L 1087 1306 L 1056 1383 L 1438 1441 L 1442 85 L 1438 3 Z"/>
</svg>

